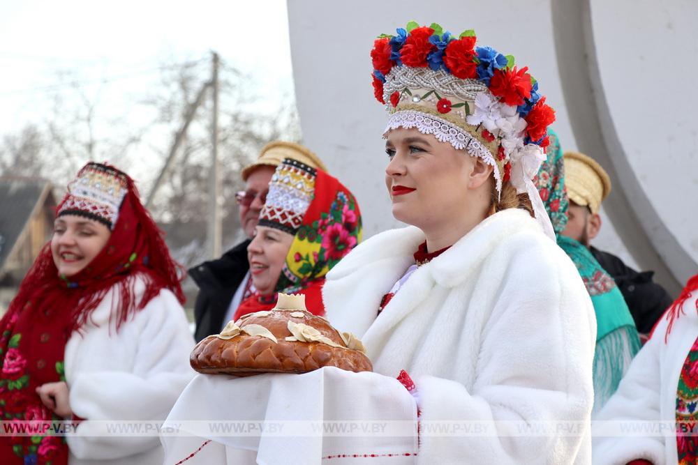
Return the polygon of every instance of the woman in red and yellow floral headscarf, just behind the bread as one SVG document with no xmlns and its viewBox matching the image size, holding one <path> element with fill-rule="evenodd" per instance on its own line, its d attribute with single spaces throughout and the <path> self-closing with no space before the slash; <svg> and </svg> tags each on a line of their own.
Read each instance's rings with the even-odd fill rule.
<svg viewBox="0 0 698 465">
<path fill-rule="evenodd" d="M 238 307 L 271 310 L 276 295 L 304 294 L 308 310 L 325 314 L 325 275 L 361 241 L 359 204 L 334 176 L 287 158 L 276 168 L 255 236 L 247 246 L 255 291 Z"/>
</svg>

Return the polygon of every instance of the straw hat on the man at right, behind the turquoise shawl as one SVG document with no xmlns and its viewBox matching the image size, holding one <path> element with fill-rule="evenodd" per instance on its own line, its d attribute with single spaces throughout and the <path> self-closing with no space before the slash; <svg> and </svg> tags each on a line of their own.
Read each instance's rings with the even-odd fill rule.
<svg viewBox="0 0 698 465">
<path fill-rule="evenodd" d="M 575 204 L 598 213 L 601 202 L 611 193 L 611 178 L 593 158 L 579 152 L 565 152 L 565 187 Z"/>
</svg>

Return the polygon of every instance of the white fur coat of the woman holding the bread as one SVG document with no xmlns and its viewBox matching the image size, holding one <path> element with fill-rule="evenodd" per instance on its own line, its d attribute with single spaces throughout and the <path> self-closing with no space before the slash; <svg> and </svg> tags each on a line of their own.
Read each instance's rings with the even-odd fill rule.
<svg viewBox="0 0 698 465">
<path fill-rule="evenodd" d="M 569 257 L 527 215 L 498 213 L 420 266 L 376 318 L 378 288 L 420 241 L 413 228 L 387 231 L 352 251 L 325 284 L 330 321 L 362 335 L 376 372 L 406 369 L 424 423 L 580 427 L 547 436 L 425 430 L 418 462 L 589 463 L 595 317 Z"/>
</svg>

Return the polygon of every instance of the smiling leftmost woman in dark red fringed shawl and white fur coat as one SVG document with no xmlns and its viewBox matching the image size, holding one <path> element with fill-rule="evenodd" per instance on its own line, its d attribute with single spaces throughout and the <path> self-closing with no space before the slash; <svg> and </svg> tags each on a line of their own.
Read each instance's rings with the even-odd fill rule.
<svg viewBox="0 0 698 465">
<path fill-rule="evenodd" d="M 47 426 L 167 416 L 193 374 L 179 270 L 133 180 L 83 167 L 0 321 L 0 415 L 33 427 L 0 439 L 0 463 L 161 460 L 157 437 L 110 437 L 82 421 L 66 438 Z"/>
</svg>

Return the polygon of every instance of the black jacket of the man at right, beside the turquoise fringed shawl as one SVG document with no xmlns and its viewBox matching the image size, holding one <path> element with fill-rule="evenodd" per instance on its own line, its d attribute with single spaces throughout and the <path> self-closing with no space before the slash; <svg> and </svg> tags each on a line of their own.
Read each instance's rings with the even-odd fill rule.
<svg viewBox="0 0 698 465">
<path fill-rule="evenodd" d="M 595 247 L 589 247 L 589 250 L 621 289 L 639 333 L 649 333 L 674 301 L 663 287 L 653 282 L 654 271 L 639 273 L 613 254 Z"/>
</svg>

